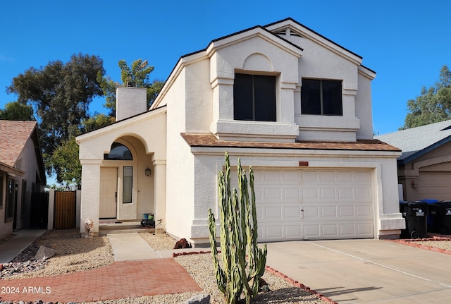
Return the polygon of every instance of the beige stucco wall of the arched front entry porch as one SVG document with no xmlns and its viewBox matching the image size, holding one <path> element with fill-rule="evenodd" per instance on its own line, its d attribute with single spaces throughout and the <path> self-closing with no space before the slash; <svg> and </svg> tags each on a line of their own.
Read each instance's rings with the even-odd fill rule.
<svg viewBox="0 0 451 304">
<path fill-rule="evenodd" d="M 166 165 L 166 108 L 156 109 L 142 115 L 114 123 L 77 138 L 80 145 L 82 164 L 82 198 L 80 221 L 94 220 L 94 231 L 99 225 L 99 177 L 101 166 L 118 167 L 118 197 L 121 197 L 123 166 L 133 166 L 132 204 L 121 204 L 118 199 L 118 219 L 142 219 L 142 213 L 154 213 L 164 219 L 164 208 L 157 205 L 166 200 L 166 179 L 158 181 L 161 167 Z M 129 147 L 133 161 L 105 161 L 113 142 L 121 142 Z M 145 176 L 144 170 L 152 169 L 152 176 Z M 165 174 L 165 173 L 163 173 Z M 80 225 L 80 232 L 85 232 Z"/>
</svg>

